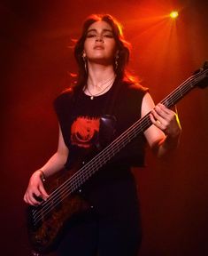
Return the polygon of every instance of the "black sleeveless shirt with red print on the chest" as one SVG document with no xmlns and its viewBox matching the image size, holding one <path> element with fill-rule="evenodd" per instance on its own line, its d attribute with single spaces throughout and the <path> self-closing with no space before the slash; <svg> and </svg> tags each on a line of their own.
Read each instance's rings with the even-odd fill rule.
<svg viewBox="0 0 208 256">
<path fill-rule="evenodd" d="M 93 151 L 102 150 L 141 118 L 145 92 L 147 88 L 141 85 L 115 82 L 108 92 L 93 100 L 84 92 L 78 95 L 73 91 L 60 94 L 54 106 L 65 145 L 69 148 L 66 169 L 70 169 L 74 161 L 82 156 L 88 157 L 93 155 Z M 113 156 L 111 163 L 143 166 L 144 146 L 145 139 L 140 134 Z"/>
</svg>

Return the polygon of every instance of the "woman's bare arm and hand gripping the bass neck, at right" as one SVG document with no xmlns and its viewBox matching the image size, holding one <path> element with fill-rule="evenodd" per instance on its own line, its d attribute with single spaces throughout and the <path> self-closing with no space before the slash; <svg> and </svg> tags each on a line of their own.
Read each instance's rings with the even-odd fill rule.
<svg viewBox="0 0 208 256">
<path fill-rule="evenodd" d="M 158 156 L 165 156 L 168 152 L 177 148 L 181 136 L 181 124 L 173 110 L 162 104 L 155 106 L 149 93 L 143 97 L 142 116 L 150 112 L 150 126 L 144 135 L 150 148 Z"/>
</svg>

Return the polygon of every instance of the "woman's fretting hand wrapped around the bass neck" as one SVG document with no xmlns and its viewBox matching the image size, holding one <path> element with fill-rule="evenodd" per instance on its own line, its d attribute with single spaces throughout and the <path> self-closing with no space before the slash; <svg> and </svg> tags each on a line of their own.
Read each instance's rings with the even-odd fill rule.
<svg viewBox="0 0 208 256">
<path fill-rule="evenodd" d="M 178 137 L 181 133 L 181 124 L 178 115 L 161 103 L 151 110 L 150 120 L 152 124 L 165 132 L 172 138 Z"/>
</svg>

